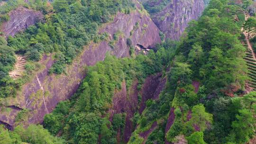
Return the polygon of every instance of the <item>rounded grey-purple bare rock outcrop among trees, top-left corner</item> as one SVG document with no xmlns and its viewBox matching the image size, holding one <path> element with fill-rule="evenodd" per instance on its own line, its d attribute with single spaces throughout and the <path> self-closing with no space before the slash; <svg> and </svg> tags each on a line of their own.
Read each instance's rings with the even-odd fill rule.
<svg viewBox="0 0 256 144">
<path fill-rule="evenodd" d="M 40 11 L 20 7 L 12 10 L 9 17 L 10 19 L 0 28 L 5 36 L 14 36 L 19 31 L 34 25 L 43 19 L 43 14 Z"/>
</svg>

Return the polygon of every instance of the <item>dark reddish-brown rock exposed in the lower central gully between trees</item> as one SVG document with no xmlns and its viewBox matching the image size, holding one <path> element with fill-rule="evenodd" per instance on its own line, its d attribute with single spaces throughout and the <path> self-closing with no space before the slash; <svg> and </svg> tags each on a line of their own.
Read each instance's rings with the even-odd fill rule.
<svg viewBox="0 0 256 144">
<path fill-rule="evenodd" d="M 144 84 L 142 85 L 142 89 L 140 91 L 137 90 L 138 81 L 134 80 L 133 84 L 128 90 L 126 89 L 125 82 L 122 83 L 122 89 L 120 91 L 116 91 L 112 100 L 112 107 L 109 110 L 110 113 L 110 121 L 114 114 L 126 113 L 126 123 L 124 128 L 123 140 L 124 142 L 128 142 L 130 136 L 135 128 L 133 126 L 133 122 L 131 121 L 132 117 L 137 110 L 141 113 L 146 108 L 146 100 L 148 99 L 158 99 L 159 94 L 165 88 L 166 77 L 161 78 L 162 73 L 157 73 L 156 75 L 148 76 Z M 138 94 L 141 95 L 141 102 L 138 104 Z M 139 109 L 138 108 L 139 105 Z M 157 123 L 151 126 L 151 128 L 145 133 L 141 133 L 140 136 L 145 139 L 146 142 L 147 137 L 153 132 L 153 130 L 157 127 Z"/>
</svg>

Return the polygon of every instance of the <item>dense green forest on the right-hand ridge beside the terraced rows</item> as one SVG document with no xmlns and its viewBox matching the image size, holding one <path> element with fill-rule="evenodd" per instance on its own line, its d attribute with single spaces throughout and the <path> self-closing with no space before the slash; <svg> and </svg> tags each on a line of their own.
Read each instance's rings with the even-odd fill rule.
<svg viewBox="0 0 256 144">
<path fill-rule="evenodd" d="M 233 19 L 241 11 L 231 0 L 211 0 L 201 18 L 190 23 L 167 72 L 166 89 L 147 101 L 129 144 L 142 143 L 139 134 L 155 121 L 158 128 L 146 144 L 164 144 L 170 107 L 175 119 L 166 134 L 169 142 L 244 144 L 255 135 L 256 93 L 240 97 L 248 79 L 246 48 L 238 40 L 242 23 Z M 192 81 L 200 82 L 198 92 Z"/>
</svg>

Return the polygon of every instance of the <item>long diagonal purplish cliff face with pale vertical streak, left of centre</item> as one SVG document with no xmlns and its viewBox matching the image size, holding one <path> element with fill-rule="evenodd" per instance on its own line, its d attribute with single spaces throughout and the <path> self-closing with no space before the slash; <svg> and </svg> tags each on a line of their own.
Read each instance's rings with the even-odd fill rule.
<svg viewBox="0 0 256 144">
<path fill-rule="evenodd" d="M 54 60 L 52 54 L 45 55 L 40 62 L 44 65 L 44 70 L 38 72 L 31 82 L 23 86 L 17 98 L 9 99 L 8 104 L 28 109 L 28 123 L 41 123 L 45 114 L 51 112 L 59 101 L 70 98 L 78 89 L 86 75 L 85 66 L 104 60 L 107 52 L 117 57 L 129 56 L 128 38 L 131 39 L 132 45 L 139 44 L 144 47 L 151 47 L 161 41 L 159 29 L 148 14 L 141 10 L 133 11 L 129 15 L 118 13 L 112 23 L 99 30 L 99 33 L 104 32 L 110 34 L 110 40 L 113 40 L 117 32 L 121 32 L 122 35 L 114 47 L 110 47 L 108 41 L 84 46 L 82 54 L 67 67 L 66 74 L 49 75 L 48 70 Z M 11 111 L 2 111 L 0 121 L 15 126 L 15 117 L 19 112 L 20 110 L 14 108 Z"/>
</svg>

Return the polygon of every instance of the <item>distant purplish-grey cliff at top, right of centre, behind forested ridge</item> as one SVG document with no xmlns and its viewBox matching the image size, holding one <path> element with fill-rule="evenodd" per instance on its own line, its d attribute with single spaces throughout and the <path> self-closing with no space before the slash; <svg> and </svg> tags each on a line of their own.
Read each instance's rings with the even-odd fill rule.
<svg viewBox="0 0 256 144">
<path fill-rule="evenodd" d="M 140 0 L 154 7 L 163 0 Z M 149 3 L 148 3 L 149 2 Z M 156 26 L 165 34 L 166 38 L 178 40 L 188 23 L 197 19 L 204 9 L 203 0 L 171 0 L 159 12 L 151 14 Z"/>
</svg>

